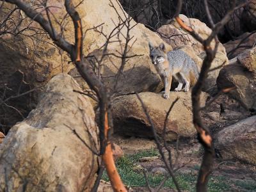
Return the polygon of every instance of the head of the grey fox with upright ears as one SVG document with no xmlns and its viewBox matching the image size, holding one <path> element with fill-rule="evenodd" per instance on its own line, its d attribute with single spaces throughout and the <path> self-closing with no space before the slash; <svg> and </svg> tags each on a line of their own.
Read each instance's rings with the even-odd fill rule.
<svg viewBox="0 0 256 192">
<path fill-rule="evenodd" d="M 151 42 L 148 42 L 150 49 L 149 56 L 154 65 L 163 63 L 166 60 L 166 51 L 164 44 L 160 44 L 158 47 L 154 47 Z"/>
</svg>

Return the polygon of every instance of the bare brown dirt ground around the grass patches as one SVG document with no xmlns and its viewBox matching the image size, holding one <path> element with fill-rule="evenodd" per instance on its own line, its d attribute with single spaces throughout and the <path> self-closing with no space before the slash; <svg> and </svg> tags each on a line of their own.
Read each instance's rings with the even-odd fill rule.
<svg viewBox="0 0 256 192">
<path fill-rule="evenodd" d="M 205 125 L 209 127 L 213 137 L 218 131 L 228 125 L 234 124 L 237 121 L 250 116 L 250 112 L 246 111 L 236 100 L 230 99 L 227 95 L 221 95 L 217 100 L 202 111 L 202 117 Z M 134 154 L 140 150 L 147 150 L 156 148 L 154 140 L 147 140 L 145 138 L 125 138 L 123 136 L 114 136 L 114 143 L 119 145 L 125 154 Z M 177 143 L 168 143 L 172 148 L 173 159 L 179 156 L 177 161 L 173 164 L 175 168 L 181 167 L 178 172 L 198 174 L 198 169 L 202 160 L 203 150 L 196 138 L 190 138 L 179 141 L 179 150 L 177 150 Z M 143 168 L 153 170 L 156 167 L 164 167 L 160 157 L 140 163 Z M 252 180 L 256 182 L 256 166 L 244 164 L 234 159 L 223 161 L 223 159 L 214 159 L 213 176 L 221 176 L 227 180 Z M 148 191 L 147 188 L 134 188 L 133 191 Z M 170 191 L 170 189 L 162 189 L 162 191 Z M 232 187 L 230 191 L 241 191 L 241 189 Z M 243 190 L 242 190 L 243 191 Z M 245 190 L 246 191 L 246 190 Z M 256 189 L 255 189 L 256 191 Z"/>
</svg>

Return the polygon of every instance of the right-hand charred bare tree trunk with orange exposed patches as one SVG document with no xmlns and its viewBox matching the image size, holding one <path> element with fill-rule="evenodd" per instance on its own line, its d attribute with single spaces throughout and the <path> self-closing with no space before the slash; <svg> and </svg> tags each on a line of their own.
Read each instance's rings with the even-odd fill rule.
<svg viewBox="0 0 256 192">
<path fill-rule="evenodd" d="M 182 0 L 179 0 L 180 4 L 182 4 Z M 218 49 L 218 40 L 217 34 L 221 28 L 230 20 L 231 15 L 234 13 L 235 10 L 245 6 L 246 4 L 250 3 L 251 1 L 246 1 L 244 3 L 239 4 L 236 6 L 236 1 L 233 1 L 232 8 L 228 10 L 227 14 L 220 22 L 213 24 L 212 23 L 212 33 L 209 35 L 207 39 L 203 39 L 200 35 L 198 35 L 190 26 L 186 26 L 184 22 L 179 18 L 179 15 L 175 17 L 179 25 L 186 31 L 188 31 L 198 42 L 200 42 L 204 46 L 204 50 L 206 52 L 206 57 L 203 61 L 200 76 L 198 81 L 196 82 L 195 86 L 193 87 L 191 98 L 192 98 L 192 107 L 193 107 L 193 124 L 195 125 L 195 129 L 198 133 L 198 141 L 204 147 L 204 157 L 202 159 L 202 164 L 198 174 L 198 180 L 196 182 L 196 191 L 207 191 L 207 183 L 209 180 L 209 175 L 211 174 L 211 167 L 213 164 L 214 159 L 214 147 L 212 143 L 212 136 L 207 127 L 202 123 L 202 118 L 200 116 L 200 94 L 202 92 L 202 88 L 207 78 L 207 74 L 211 68 L 211 63 L 214 60 L 216 55 L 216 51 Z M 207 1 L 205 3 L 206 10 L 208 4 Z M 207 17 L 211 19 L 211 14 Z M 212 40 L 215 39 L 215 46 L 211 47 Z"/>
</svg>

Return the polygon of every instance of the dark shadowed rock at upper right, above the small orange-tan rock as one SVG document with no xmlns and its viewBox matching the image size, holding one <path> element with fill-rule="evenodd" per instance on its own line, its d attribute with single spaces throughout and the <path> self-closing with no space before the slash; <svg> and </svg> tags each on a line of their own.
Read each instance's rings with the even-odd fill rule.
<svg viewBox="0 0 256 192">
<path fill-rule="evenodd" d="M 255 33 L 244 33 L 243 35 L 236 38 L 234 41 L 229 41 L 223 44 L 227 51 L 228 59 L 235 58 L 238 54 L 248 48 L 252 48 L 254 40 L 256 38 Z M 238 46 L 238 47 L 237 47 Z"/>
</svg>

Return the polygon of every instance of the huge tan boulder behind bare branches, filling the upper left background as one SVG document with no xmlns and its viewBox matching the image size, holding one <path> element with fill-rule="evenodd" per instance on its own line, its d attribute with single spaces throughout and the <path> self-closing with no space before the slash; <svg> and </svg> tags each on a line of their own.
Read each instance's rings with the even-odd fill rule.
<svg viewBox="0 0 256 192">
<path fill-rule="evenodd" d="M 33 5 L 33 8 L 42 13 L 47 19 L 46 12 L 42 8 L 42 4 L 38 1 L 26 1 Z M 128 15 L 120 6 L 118 1 L 112 1 L 113 6 L 111 6 L 110 1 L 99 0 L 99 1 L 73 1 L 77 12 L 82 19 L 83 31 L 84 31 L 84 55 L 95 52 L 95 50 L 102 47 L 106 42 L 106 36 L 112 33 L 115 34 L 108 44 L 108 50 L 115 55 L 120 56 L 120 47 L 125 44 L 125 34 L 127 34 L 127 28 L 125 26 L 120 26 L 120 33 L 116 28 L 116 25 L 120 20 L 127 19 Z M 63 1 L 47 1 L 47 6 L 54 17 L 51 16 L 52 26 L 56 28 L 58 32 L 63 33 L 65 39 L 68 42 L 74 43 L 74 24 L 70 17 L 64 17 L 67 12 L 65 11 L 65 6 Z M 15 8 L 13 4 L 4 3 L 1 7 L 0 19 L 5 18 L 11 10 Z M 95 13 L 97 17 L 95 17 Z M 119 15 L 118 15 L 119 14 Z M 50 14 L 51 15 L 51 14 Z M 22 22 L 20 18 L 22 17 Z M 131 18 L 129 18 L 131 19 Z M 19 30 L 22 31 L 22 35 L 3 35 L 0 39 L 0 81 L 5 83 L 5 79 L 10 79 L 9 77 L 14 74 L 17 70 L 20 70 L 24 74 L 24 81 L 29 83 L 29 87 L 33 89 L 34 87 L 42 86 L 51 79 L 52 76 L 60 74 L 62 72 L 69 72 L 74 65 L 70 63 L 70 58 L 67 53 L 56 47 L 54 42 L 49 39 L 49 35 L 45 34 L 45 31 L 36 22 L 31 22 L 24 12 L 15 12 L 12 15 L 12 22 L 16 23 L 13 26 L 18 26 Z M 62 26 L 60 27 L 60 23 Z M 101 24 L 101 25 L 100 25 Z M 126 23 L 127 24 L 127 23 Z M 27 28 L 29 25 L 29 28 Z M 91 29 L 95 26 L 100 25 L 98 31 L 96 29 Z M 130 26 L 132 29 L 129 31 L 129 36 L 132 40 L 129 41 L 128 49 L 129 55 L 137 54 L 138 57 L 129 58 L 127 65 L 125 65 L 124 72 L 120 76 L 120 81 L 118 81 L 118 92 L 119 94 L 127 94 L 134 92 L 151 91 L 158 92 L 163 88 L 163 83 L 158 75 L 156 75 L 156 70 L 152 67 L 150 58 L 148 56 L 148 41 L 150 40 L 154 44 L 160 44 L 163 42 L 159 36 L 145 28 L 143 24 L 137 24 L 131 19 Z M 26 29 L 27 28 L 27 29 Z M 24 30 L 23 30 L 24 29 Z M 99 33 L 102 31 L 102 33 Z M 122 36 L 124 35 L 124 36 Z M 136 41 L 135 41 L 136 40 Z M 135 42 L 134 42 L 135 41 Z M 121 46 L 122 45 L 122 46 Z M 123 46 L 124 47 L 124 46 Z M 166 44 L 166 47 L 168 45 Z M 170 47 L 168 49 L 172 49 Z M 102 56 L 102 50 L 96 51 L 99 53 L 100 58 Z M 70 63 L 70 64 L 68 64 Z M 104 62 L 102 62 L 104 73 L 102 74 L 103 81 L 109 88 L 115 86 L 117 69 L 121 66 L 120 58 L 115 58 L 113 55 L 106 57 Z M 95 63 L 97 66 L 97 62 Z M 80 79 L 82 81 L 82 79 Z M 10 79 L 10 81 L 15 81 L 15 79 Z M 16 82 L 19 84 L 20 82 Z M 124 85 L 125 84 L 125 85 Z M 7 84 L 8 86 L 8 84 Z M 88 86 L 86 86 L 88 88 Z M 4 86 L 0 85 L 0 92 L 3 92 Z M 28 90 L 28 89 L 26 89 Z M 26 92 L 26 90 L 21 90 L 20 93 Z M 17 90 L 19 92 L 19 90 Z M 2 95 L 1 95 L 2 96 Z M 17 114 L 17 118 L 6 119 L 8 122 L 4 122 L 6 126 L 10 127 L 12 125 L 10 122 L 15 122 L 22 120 L 26 117 L 29 111 L 36 104 L 35 98 L 31 99 L 31 94 L 26 95 L 27 99 L 31 101 L 31 106 L 29 108 L 17 108 L 21 111 L 22 116 Z M 12 100 L 16 102 L 16 100 Z M 16 108 L 15 105 L 10 104 Z M 12 113 L 17 113 L 14 109 L 8 109 Z M 14 112 L 13 112 L 14 111 Z M 0 113 L 3 113 L 0 111 Z M 9 113 L 5 113 L 6 116 Z"/>
</svg>

